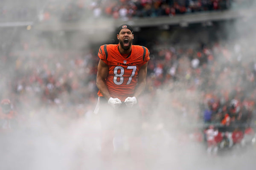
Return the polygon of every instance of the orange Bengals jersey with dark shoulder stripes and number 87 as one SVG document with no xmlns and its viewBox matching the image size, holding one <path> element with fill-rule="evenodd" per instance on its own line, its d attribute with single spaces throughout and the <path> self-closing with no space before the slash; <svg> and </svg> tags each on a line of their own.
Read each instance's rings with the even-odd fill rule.
<svg viewBox="0 0 256 170">
<path fill-rule="evenodd" d="M 123 57 L 118 44 L 102 45 L 98 56 L 108 65 L 108 77 L 105 83 L 113 98 L 125 101 L 132 97 L 137 85 L 138 71 L 149 60 L 148 48 L 140 45 L 132 45 L 131 54 Z M 100 91 L 99 96 L 103 96 Z"/>
</svg>

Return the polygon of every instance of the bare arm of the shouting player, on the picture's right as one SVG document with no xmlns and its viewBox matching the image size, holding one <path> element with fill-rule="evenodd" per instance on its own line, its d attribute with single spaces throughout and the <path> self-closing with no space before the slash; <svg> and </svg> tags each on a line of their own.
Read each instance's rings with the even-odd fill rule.
<svg viewBox="0 0 256 170">
<path fill-rule="evenodd" d="M 138 72 L 138 84 L 134 91 L 134 96 L 137 98 L 145 89 L 146 85 L 146 77 L 147 77 L 147 66 L 148 62 L 146 62 L 143 66 L 141 66 Z"/>
</svg>

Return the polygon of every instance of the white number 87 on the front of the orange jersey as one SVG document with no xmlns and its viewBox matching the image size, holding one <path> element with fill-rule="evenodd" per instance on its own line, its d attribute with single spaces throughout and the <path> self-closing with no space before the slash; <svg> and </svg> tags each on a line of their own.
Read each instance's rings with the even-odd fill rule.
<svg viewBox="0 0 256 170">
<path fill-rule="evenodd" d="M 126 83 L 126 85 L 129 85 L 131 83 L 132 77 L 134 77 L 134 75 L 135 75 L 136 68 L 137 68 L 136 65 L 135 66 L 127 66 L 126 69 L 132 69 L 132 73 L 131 73 L 131 76 L 129 77 L 128 82 Z M 119 74 L 117 73 L 118 70 L 120 70 Z M 113 79 L 114 83 L 116 85 L 122 85 L 122 83 L 124 82 L 123 75 L 125 74 L 125 68 L 123 68 L 122 66 L 116 66 L 114 68 L 114 74 L 115 74 L 114 79 Z M 119 82 L 117 81 L 117 77 L 120 77 Z"/>
</svg>

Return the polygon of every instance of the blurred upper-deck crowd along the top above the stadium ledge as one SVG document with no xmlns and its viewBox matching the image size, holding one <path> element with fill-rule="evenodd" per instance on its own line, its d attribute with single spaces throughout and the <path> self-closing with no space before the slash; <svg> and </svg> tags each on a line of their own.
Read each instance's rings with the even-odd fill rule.
<svg viewBox="0 0 256 170">
<path fill-rule="evenodd" d="M 89 17 L 128 20 L 244 8 L 252 4 L 253 0 L 26 0 L 17 4 L 3 1 L 0 21 L 77 21 Z"/>
</svg>

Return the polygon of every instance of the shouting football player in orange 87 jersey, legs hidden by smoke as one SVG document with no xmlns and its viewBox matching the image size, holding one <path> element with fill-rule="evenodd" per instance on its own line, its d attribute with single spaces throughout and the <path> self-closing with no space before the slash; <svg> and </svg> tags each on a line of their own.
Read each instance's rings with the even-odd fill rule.
<svg viewBox="0 0 256 170">
<path fill-rule="evenodd" d="M 127 24 L 117 30 L 118 44 L 102 45 L 99 48 L 96 85 L 99 88 L 95 113 L 99 113 L 102 124 L 102 153 L 110 158 L 113 137 L 122 134 L 131 139 L 129 148 L 139 144 L 141 114 L 138 96 L 146 84 L 148 48 L 133 45 L 133 28 Z M 128 137 L 128 138 L 127 138 Z M 127 146 L 127 145 L 126 145 Z"/>
</svg>

